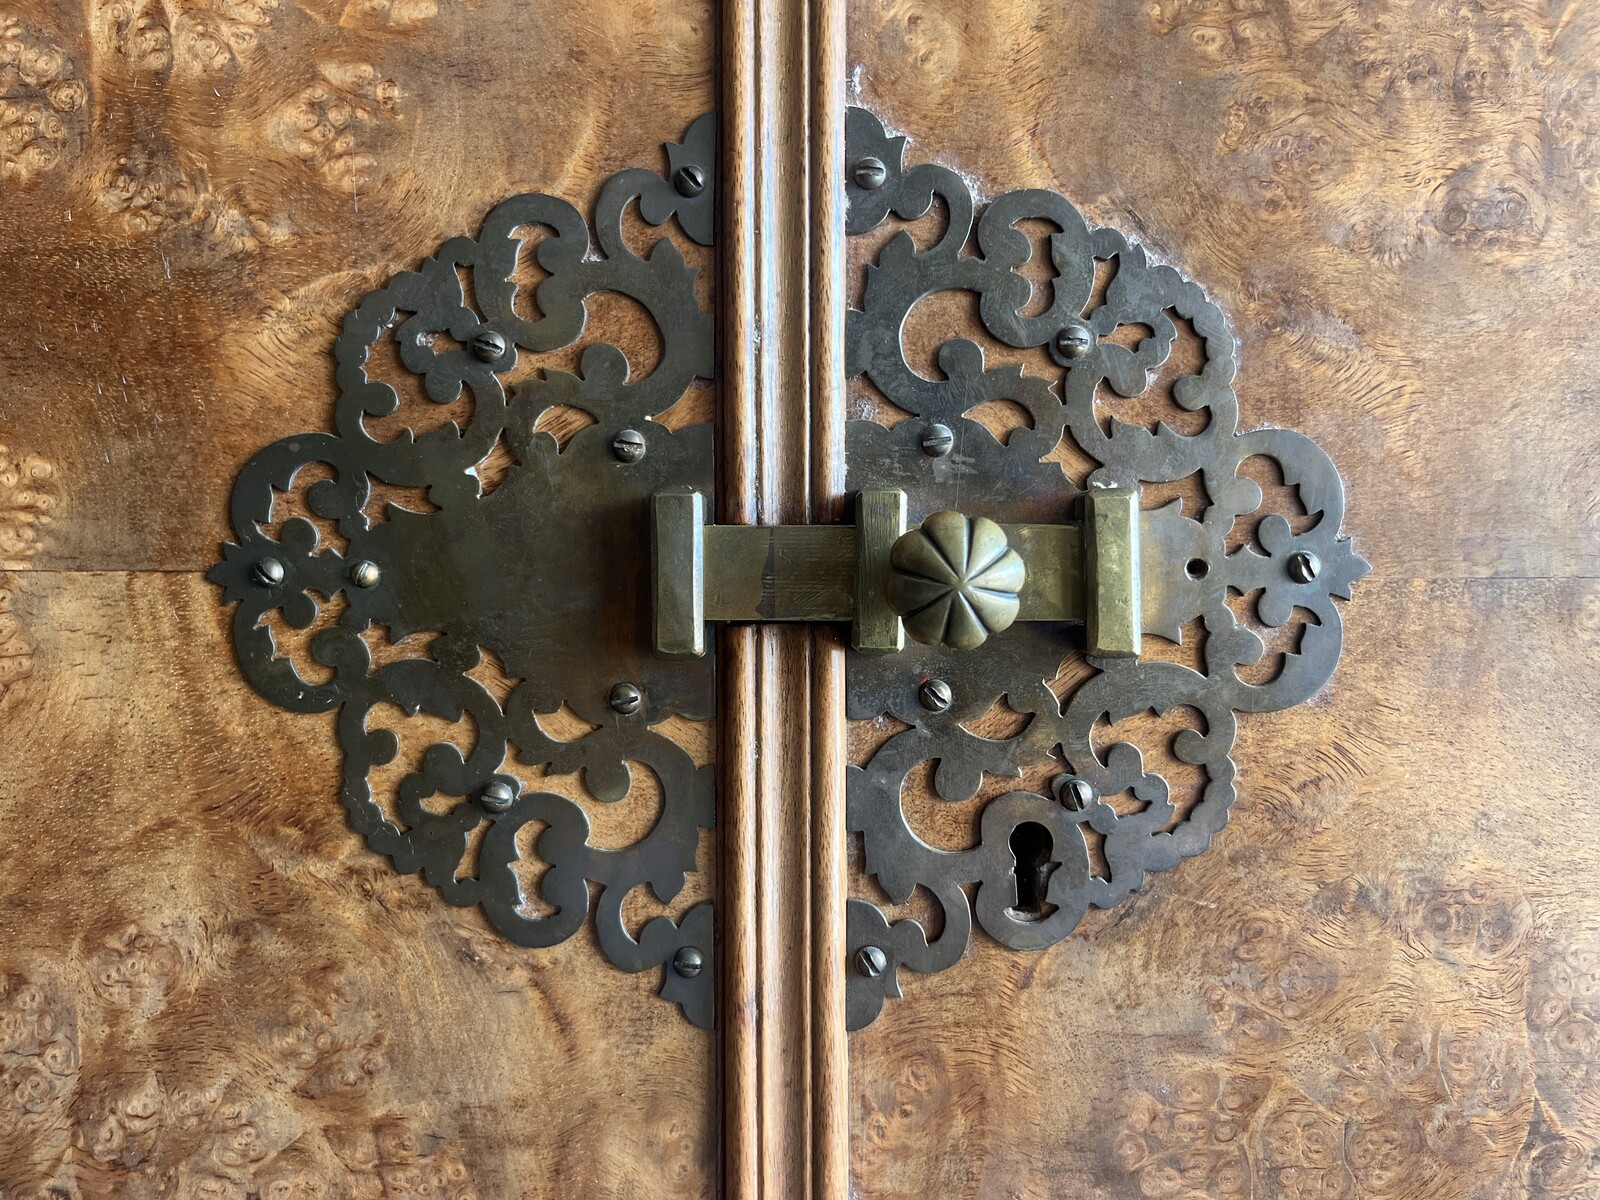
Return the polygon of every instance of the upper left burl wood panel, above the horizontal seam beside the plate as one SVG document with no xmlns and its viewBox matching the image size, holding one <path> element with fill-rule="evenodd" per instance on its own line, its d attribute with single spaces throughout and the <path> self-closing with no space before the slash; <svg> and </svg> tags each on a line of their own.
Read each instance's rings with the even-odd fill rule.
<svg viewBox="0 0 1600 1200">
<path fill-rule="evenodd" d="M 715 106 L 694 0 L 88 10 L 0 26 L 50 69 L 0 66 L 0 94 L 62 125 L 0 211 L 0 438 L 61 488 L 40 566 L 210 565 L 237 466 L 326 427 L 363 291 L 509 195 L 587 211 Z"/>
</svg>

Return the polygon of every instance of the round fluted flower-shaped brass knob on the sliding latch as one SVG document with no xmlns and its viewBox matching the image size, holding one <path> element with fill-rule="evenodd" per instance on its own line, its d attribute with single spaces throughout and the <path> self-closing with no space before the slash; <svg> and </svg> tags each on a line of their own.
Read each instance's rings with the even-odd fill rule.
<svg viewBox="0 0 1600 1200">
<path fill-rule="evenodd" d="M 1016 621 L 1026 579 L 1005 530 L 987 517 L 936 512 L 894 542 L 885 594 L 918 642 L 971 650 Z"/>
</svg>

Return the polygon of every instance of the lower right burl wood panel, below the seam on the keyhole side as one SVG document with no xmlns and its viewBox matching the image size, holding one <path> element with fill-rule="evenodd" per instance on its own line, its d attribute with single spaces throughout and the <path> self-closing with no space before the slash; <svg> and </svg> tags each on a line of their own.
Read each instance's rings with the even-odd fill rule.
<svg viewBox="0 0 1600 1200">
<path fill-rule="evenodd" d="M 851 1038 L 861 1192 L 1582 1194 L 1530 1173 L 1592 1186 L 1600 1136 L 1597 610 L 1592 581 L 1368 586 L 1347 632 L 1384 653 L 1242 723 L 1205 854 L 1050 950 L 904 973 Z M 1485 670 L 1490 626 L 1528 634 Z"/>
</svg>

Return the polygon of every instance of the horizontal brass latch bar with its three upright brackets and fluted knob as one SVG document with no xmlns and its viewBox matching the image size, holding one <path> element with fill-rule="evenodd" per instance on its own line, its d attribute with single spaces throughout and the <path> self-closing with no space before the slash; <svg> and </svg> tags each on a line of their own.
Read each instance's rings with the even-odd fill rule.
<svg viewBox="0 0 1600 1200">
<path fill-rule="evenodd" d="M 853 525 L 707 525 L 701 493 L 658 491 L 656 653 L 702 656 L 707 621 L 848 621 L 869 653 L 902 650 L 907 627 L 966 648 L 1011 621 L 1061 621 L 1085 624 L 1090 654 L 1136 658 L 1139 528 L 1138 488 L 1086 493 L 1082 525 L 934 514 L 912 531 L 898 488 L 861 491 Z"/>
</svg>

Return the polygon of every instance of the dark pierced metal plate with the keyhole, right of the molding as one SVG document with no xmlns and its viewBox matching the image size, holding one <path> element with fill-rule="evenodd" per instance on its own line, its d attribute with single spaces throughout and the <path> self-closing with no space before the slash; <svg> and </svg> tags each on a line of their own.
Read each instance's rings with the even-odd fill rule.
<svg viewBox="0 0 1600 1200">
<path fill-rule="evenodd" d="M 850 829 L 862 837 L 866 869 L 891 902 L 909 901 L 922 886 L 944 910 L 944 928 L 930 939 L 914 918 L 891 922 L 877 906 L 851 901 L 853 1029 L 870 1022 L 885 997 L 899 995 L 896 968 L 952 966 L 966 949 L 974 917 L 1008 947 L 1051 946 L 1090 906 L 1114 906 L 1149 872 L 1205 850 L 1235 798 L 1229 757 L 1235 712 L 1285 709 L 1328 680 L 1341 646 L 1333 598 L 1349 598 L 1350 584 L 1368 571 L 1339 536 L 1344 490 L 1328 456 L 1299 434 L 1238 430 L 1234 336 L 1195 283 L 1149 262 L 1122 234 L 1090 227 L 1054 192 L 1006 192 L 979 214 L 955 171 L 906 166 L 904 149 L 906 139 L 888 136 L 869 112 L 850 110 L 846 162 L 866 163 L 846 182 L 850 234 L 867 234 L 891 218 L 918 219 L 934 202 L 947 216 L 942 234 L 926 248 L 918 250 L 907 232 L 894 235 L 866 270 L 861 309 L 848 315 L 850 374 L 864 376 L 917 418 L 893 429 L 850 422 L 850 490 L 904 490 L 914 525 L 952 509 L 995 522 L 1069 522 L 1082 493 L 1058 462 L 1046 461 L 1062 437 L 1098 462 L 1090 488 L 1171 483 L 1198 472 L 1208 499 L 1200 518 L 1184 515 L 1176 501 L 1146 514 L 1147 536 L 1154 534 L 1160 557 L 1187 568 L 1146 590 L 1142 621 L 1146 632 L 1174 643 L 1186 624 L 1202 621 L 1205 669 L 1088 659 L 1072 675 L 1082 682 L 1058 696 L 1048 680 L 1082 645 L 1082 627 L 1048 622 L 1018 622 L 976 651 L 909 645 L 899 654 L 851 656 L 850 715 L 888 714 L 910 728 L 850 770 Z M 1053 277 L 1048 306 L 1024 315 L 1032 283 L 1022 267 L 1032 245 L 1018 224 L 1029 219 L 1054 229 L 1048 237 Z M 1110 274 L 1099 298 L 1098 264 L 1104 264 L 1101 278 L 1107 269 Z M 952 290 L 976 294 L 989 336 L 1006 347 L 1043 349 L 1059 376 L 986 366 L 981 347 L 966 338 L 952 338 L 939 349 L 942 378 L 912 370 L 902 349 L 906 318 L 923 298 Z M 1120 421 L 1115 400 L 1149 387 L 1173 349 L 1178 322 L 1203 341 L 1203 365 L 1176 382 L 1173 400 L 1189 413 L 1203 413 L 1203 429 L 1178 432 L 1166 424 L 1147 429 Z M 1114 341 L 1126 326 L 1149 333 L 1133 346 Z M 1021 406 L 1029 427 L 1000 442 L 970 416 L 992 400 Z M 949 438 L 933 426 L 946 427 Z M 1259 512 L 1262 490 L 1240 470 L 1253 456 L 1277 462 L 1283 482 L 1299 490 L 1310 517 L 1306 528 L 1294 531 L 1285 515 Z M 1229 547 L 1235 520 L 1246 517 L 1259 517 L 1259 550 L 1251 544 Z M 1296 608 L 1310 613 L 1298 653 L 1286 654 L 1282 670 L 1259 685 L 1245 682 L 1238 670 L 1261 659 L 1264 643 L 1229 605 L 1229 595 L 1258 590 L 1256 616 L 1266 627 L 1285 626 Z M 1026 728 L 1010 738 L 971 733 L 966 726 L 1002 696 L 1027 720 Z M 1203 717 L 1203 728 L 1184 730 L 1171 747 L 1179 762 L 1203 768 L 1206 778 L 1186 810 L 1171 802 L 1168 781 L 1146 770 L 1136 746 L 1094 742 L 1101 720 L 1115 723 L 1179 706 Z M 1048 794 L 1014 790 L 989 800 L 978 818 L 976 845 L 949 851 L 920 838 L 902 811 L 907 776 L 930 760 L 936 763 L 938 798 L 950 803 L 978 795 L 986 773 L 1018 776 L 1050 762 L 1059 763 L 1059 773 Z"/>
</svg>

